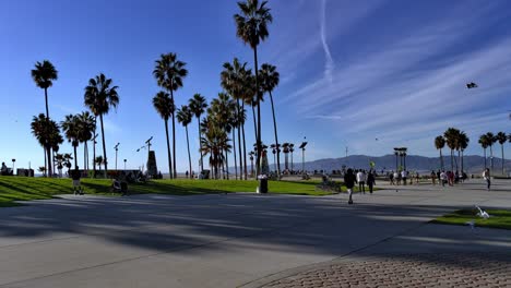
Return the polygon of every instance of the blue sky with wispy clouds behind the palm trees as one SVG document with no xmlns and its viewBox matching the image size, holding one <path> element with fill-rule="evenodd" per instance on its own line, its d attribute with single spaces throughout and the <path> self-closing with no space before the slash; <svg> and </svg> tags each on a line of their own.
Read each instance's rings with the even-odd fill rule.
<svg viewBox="0 0 511 288">
<path fill-rule="evenodd" d="M 345 146 L 349 154 L 378 156 L 407 146 L 409 154 L 436 156 L 432 140 L 448 127 L 467 132 L 467 153 L 480 155 L 479 134 L 511 132 L 509 1 L 278 0 L 269 5 L 274 22 L 259 61 L 281 73 L 274 92 L 280 139 L 299 143 L 307 136 L 308 159 L 342 157 Z M 32 117 L 45 109 L 44 93 L 29 72 L 48 59 L 59 71 L 49 89 L 52 119 L 85 110 L 83 89 L 103 72 L 120 87 L 120 106 L 105 118 L 110 167 L 118 142 L 119 159 L 127 158 L 128 167 L 144 164 L 145 153 L 135 149 L 154 136 L 158 168 L 168 170 L 164 123 L 151 104 L 159 89 L 154 61 L 176 52 L 187 62 L 178 106 L 194 93 L 211 100 L 222 91 L 222 63 L 238 57 L 253 65 L 252 51 L 236 37 L 236 12 L 231 0 L 1 1 L 0 160 L 44 164 L 29 130 Z M 466 89 L 470 81 L 479 88 Z M 272 143 L 269 101 L 262 115 L 263 140 Z M 248 143 L 253 143 L 251 127 L 249 121 Z M 194 121 L 194 169 L 195 135 Z M 177 137 L 183 171 L 179 125 Z M 72 152 L 68 143 L 61 151 Z"/>
</svg>

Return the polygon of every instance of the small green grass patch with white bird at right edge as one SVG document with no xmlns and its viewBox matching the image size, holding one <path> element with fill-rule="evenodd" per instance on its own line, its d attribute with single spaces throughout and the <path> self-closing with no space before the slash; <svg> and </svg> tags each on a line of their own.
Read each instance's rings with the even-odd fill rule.
<svg viewBox="0 0 511 288">
<path fill-rule="evenodd" d="M 461 209 L 451 214 L 438 217 L 431 223 L 449 225 L 467 225 L 467 221 L 475 220 L 476 227 L 499 228 L 511 230 L 511 211 L 488 209 L 488 219 L 477 216 L 477 209 Z"/>
</svg>

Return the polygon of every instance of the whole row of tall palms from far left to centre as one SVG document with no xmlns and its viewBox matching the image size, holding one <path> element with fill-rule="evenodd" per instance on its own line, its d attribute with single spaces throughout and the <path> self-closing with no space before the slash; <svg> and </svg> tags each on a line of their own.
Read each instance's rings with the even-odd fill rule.
<svg viewBox="0 0 511 288">
<path fill-rule="evenodd" d="M 239 178 L 247 179 L 247 148 L 246 148 L 246 136 L 245 136 L 245 122 L 246 122 L 246 110 L 245 106 L 248 105 L 252 108 L 252 117 L 254 123 L 254 136 L 255 136 L 255 171 L 257 175 L 260 171 L 260 158 L 262 151 L 261 141 L 261 101 L 265 93 L 270 95 L 272 105 L 272 115 L 274 122 L 274 134 L 275 144 L 278 146 L 277 127 L 275 119 L 275 109 L 273 104 L 273 89 L 278 85 L 280 75 L 274 65 L 264 63 L 259 69 L 258 65 L 258 46 L 261 41 L 265 40 L 269 36 L 268 24 L 273 21 L 270 13 L 270 9 L 266 8 L 268 2 L 260 2 L 259 0 L 247 0 L 246 2 L 238 2 L 240 13 L 234 15 L 234 20 L 237 26 L 237 36 L 250 46 L 253 50 L 254 68 L 252 70 L 247 69 L 247 63 L 240 63 L 238 59 L 234 59 L 233 63 L 225 63 L 224 70 L 221 73 L 222 86 L 225 89 L 225 94 L 218 95 L 218 98 L 212 101 L 211 107 L 207 109 L 207 117 L 201 120 L 201 116 L 205 112 L 207 107 L 205 98 L 200 94 L 195 94 L 192 99 L 189 100 L 188 106 L 182 106 L 179 110 L 176 109 L 174 94 L 183 85 L 183 80 L 188 75 L 186 63 L 180 61 L 176 53 L 164 53 L 155 62 L 155 69 L 153 75 L 156 79 L 157 85 L 162 87 L 159 92 L 153 98 L 153 106 L 165 121 L 165 130 L 167 137 L 167 156 L 168 166 L 171 178 L 177 177 L 176 170 L 176 112 L 178 113 L 177 120 L 183 124 L 187 130 L 187 145 L 188 145 L 188 159 L 189 159 L 189 171 L 191 175 L 191 156 L 189 148 L 189 136 L 188 125 L 192 122 L 193 116 L 197 118 L 199 125 L 199 137 L 201 142 L 200 154 L 201 154 L 201 170 L 203 169 L 203 154 L 210 155 L 210 164 L 214 163 L 215 166 L 221 167 L 227 165 L 227 153 L 230 152 L 230 144 L 235 148 L 235 173 L 238 177 L 238 161 L 239 158 Z M 57 123 L 52 122 L 49 117 L 48 108 L 48 88 L 51 87 L 52 82 L 58 79 L 58 72 L 55 67 L 47 60 L 37 62 L 36 68 L 32 71 L 32 75 L 36 85 L 45 91 L 46 100 L 46 117 L 45 122 L 41 124 L 38 134 L 39 143 L 45 148 L 45 163 L 47 159 L 49 175 L 52 175 L 51 170 L 51 151 L 58 149 L 58 145 L 52 145 L 50 140 L 50 132 L 59 130 Z M 107 115 L 111 108 L 117 108 L 119 105 L 119 95 L 117 93 L 118 87 L 112 85 L 112 80 L 106 77 L 103 73 L 93 77 L 88 81 L 88 85 L 85 87 L 84 104 L 92 112 L 92 115 L 82 116 L 67 116 L 66 120 L 62 121 L 61 125 L 64 130 L 66 137 L 71 142 L 74 148 L 74 161 L 78 166 L 76 148 L 80 143 L 84 143 L 84 168 L 88 165 L 88 148 L 87 142 L 93 140 L 94 143 L 94 156 L 96 160 L 95 139 L 97 118 L 99 118 L 100 133 L 103 140 L 103 159 L 102 163 L 106 171 L 108 170 L 108 160 L 106 153 L 106 141 L 104 133 L 104 116 Z M 255 113 L 257 109 L 257 113 Z M 87 124 L 83 122 L 86 118 Z M 92 119 L 93 118 L 93 119 Z M 168 120 L 171 119 L 171 136 L 173 145 L 170 153 L 170 141 L 169 141 L 169 128 Z M 43 120 L 43 119 L 39 119 Z M 56 127 L 51 128 L 52 123 Z M 40 123 L 39 123 L 40 124 Z M 92 129 L 92 130 L 91 130 Z M 83 131 L 82 131 L 83 130 Z M 238 151 L 236 152 L 236 132 L 238 135 Z M 231 133 L 233 137 L 229 139 L 227 135 Z M 58 134 L 58 133 L 57 133 Z M 241 140 L 242 137 L 242 140 Z M 60 141 L 62 143 L 63 141 Z M 225 143 L 221 143 L 225 142 Z M 215 148 L 212 148 L 212 143 L 216 143 Z M 222 145 L 219 145 L 221 143 Z M 241 144 L 242 143 L 242 144 Z M 218 145 L 221 149 L 218 149 Z M 210 146 L 210 148 L 207 148 Z M 224 156 L 225 154 L 225 156 Z M 221 165 L 221 166 L 218 166 Z M 223 167 L 223 166 L 222 166 Z M 94 173 L 96 173 L 96 165 L 93 165 Z M 218 168 L 217 168 L 218 169 Z M 228 169 L 228 168 L 227 168 Z M 281 173 L 280 167 L 280 155 L 277 153 L 277 173 Z M 227 172 L 228 176 L 228 172 Z"/>
</svg>

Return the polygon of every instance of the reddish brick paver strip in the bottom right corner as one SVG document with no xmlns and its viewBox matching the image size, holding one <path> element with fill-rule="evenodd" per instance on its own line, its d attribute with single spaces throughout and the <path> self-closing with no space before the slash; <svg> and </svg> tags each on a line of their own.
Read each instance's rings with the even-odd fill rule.
<svg viewBox="0 0 511 288">
<path fill-rule="evenodd" d="M 511 287 L 511 255 L 404 254 L 333 261 L 261 287 Z"/>
</svg>

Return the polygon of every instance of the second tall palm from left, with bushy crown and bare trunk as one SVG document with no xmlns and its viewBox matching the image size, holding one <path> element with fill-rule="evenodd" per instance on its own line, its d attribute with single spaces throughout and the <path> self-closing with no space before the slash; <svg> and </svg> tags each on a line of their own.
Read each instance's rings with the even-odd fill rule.
<svg viewBox="0 0 511 288">
<path fill-rule="evenodd" d="M 105 144 L 105 129 L 103 125 L 103 116 L 110 111 L 110 108 L 117 108 L 119 105 L 119 94 L 117 93 L 118 86 L 111 86 L 112 80 L 107 79 L 105 74 L 100 73 L 94 79 L 88 80 L 88 85 L 85 87 L 84 103 L 85 106 L 95 115 L 99 117 L 102 124 L 102 140 L 103 140 L 103 161 L 105 164 L 105 178 L 108 171 L 108 159 L 106 155 Z"/>
</svg>

